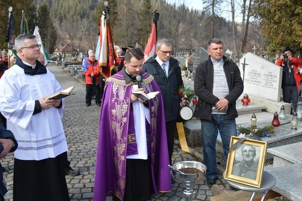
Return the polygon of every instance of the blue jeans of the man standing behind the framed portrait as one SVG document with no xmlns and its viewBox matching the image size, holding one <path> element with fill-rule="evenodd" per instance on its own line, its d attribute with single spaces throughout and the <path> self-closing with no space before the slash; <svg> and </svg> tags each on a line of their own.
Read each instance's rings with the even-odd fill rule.
<svg viewBox="0 0 302 201">
<path fill-rule="evenodd" d="M 212 114 L 212 120 L 202 122 L 202 139 L 204 150 L 204 163 L 207 166 L 206 178 L 217 177 L 216 166 L 216 140 L 218 131 L 222 138 L 225 161 L 227 162 L 231 136 L 237 136 L 235 119 L 226 119 L 226 115 Z"/>
</svg>

